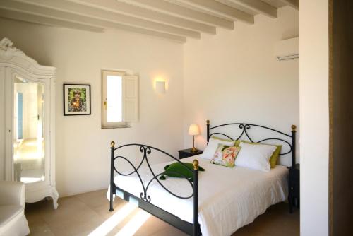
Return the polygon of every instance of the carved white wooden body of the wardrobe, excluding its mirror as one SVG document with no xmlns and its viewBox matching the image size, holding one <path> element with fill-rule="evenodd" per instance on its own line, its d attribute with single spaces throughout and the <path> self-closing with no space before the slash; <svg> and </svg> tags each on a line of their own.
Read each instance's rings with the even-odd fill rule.
<svg viewBox="0 0 353 236">
<path fill-rule="evenodd" d="M 6 180 L 15 179 L 14 83 L 16 79 L 23 78 L 31 83 L 42 84 L 45 92 L 43 98 L 44 180 L 25 184 L 25 201 L 32 203 L 50 196 L 53 199 L 54 208 L 57 208 L 59 194 L 55 187 L 55 74 L 54 67 L 40 66 L 37 61 L 13 47 L 13 43 L 7 38 L 0 41 L 0 147 L 2 149 L 0 162 L 4 162 L 4 170 L 1 172 L 4 173 Z M 2 165 L 0 166 L 1 169 Z"/>
</svg>

